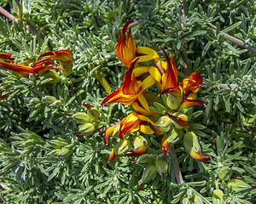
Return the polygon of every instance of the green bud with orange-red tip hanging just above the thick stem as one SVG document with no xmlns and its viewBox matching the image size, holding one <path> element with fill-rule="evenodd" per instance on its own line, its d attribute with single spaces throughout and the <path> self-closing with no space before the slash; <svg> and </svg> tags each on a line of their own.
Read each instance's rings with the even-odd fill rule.
<svg viewBox="0 0 256 204">
<path fill-rule="evenodd" d="M 177 140 L 181 139 L 183 136 L 183 130 L 180 128 L 172 128 L 169 130 L 166 135 L 163 137 L 161 141 L 161 147 L 163 155 L 167 155 L 169 151 L 169 147 L 177 142 Z"/>
</svg>

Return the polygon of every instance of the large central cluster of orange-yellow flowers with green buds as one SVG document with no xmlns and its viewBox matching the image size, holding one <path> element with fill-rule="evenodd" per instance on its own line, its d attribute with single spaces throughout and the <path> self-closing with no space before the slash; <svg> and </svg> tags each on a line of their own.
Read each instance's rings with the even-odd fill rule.
<svg viewBox="0 0 256 204">
<path fill-rule="evenodd" d="M 131 27 L 125 38 L 125 31 L 131 21 L 129 20 L 121 30 L 116 48 L 119 60 L 129 70 L 125 71 L 122 87 L 108 95 L 102 101 L 102 106 L 107 102 L 108 104 L 118 102 L 132 105 L 135 111 L 125 116 L 119 125 L 109 127 L 103 141 L 108 144 L 108 139 L 111 137 L 121 139 L 114 145 L 108 162 L 120 156 L 140 156 L 134 163 L 137 162 L 138 165 L 146 167 L 143 173 L 144 184 L 154 178 L 156 172 L 165 178 L 167 164 L 166 161 L 159 159 L 159 156 L 146 154 L 148 141 L 140 133 L 163 135 L 161 148 L 163 155 L 167 155 L 169 148 L 182 138 L 183 129 L 185 129 L 183 143 L 190 156 L 200 161 L 209 161 L 211 157 L 201 155 L 200 144 L 195 133 L 189 132 L 187 128 L 193 113 L 192 107 L 204 105 L 201 100 L 196 99 L 196 93 L 201 88 L 203 78 L 199 73 L 194 72 L 178 85 L 177 69 L 172 54 L 170 54 L 170 60 L 165 50 L 161 48 L 166 58 L 166 61 L 163 61 L 151 48 L 136 48 L 131 37 Z M 159 96 L 163 98 L 164 104 L 160 104 L 158 97 L 148 91 L 148 88 L 155 83 L 160 89 Z M 134 150 L 127 153 L 131 144 Z"/>
</svg>

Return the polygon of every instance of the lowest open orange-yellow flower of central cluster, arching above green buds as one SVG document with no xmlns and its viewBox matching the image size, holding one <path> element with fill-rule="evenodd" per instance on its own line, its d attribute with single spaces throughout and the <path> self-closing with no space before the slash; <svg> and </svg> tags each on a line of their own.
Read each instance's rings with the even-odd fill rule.
<svg viewBox="0 0 256 204">
<path fill-rule="evenodd" d="M 160 135 L 164 130 L 155 125 L 148 117 L 138 112 L 132 112 L 129 116 L 125 116 L 120 123 L 119 138 L 124 139 L 128 133 L 140 131 L 146 134 L 155 133 Z"/>
</svg>

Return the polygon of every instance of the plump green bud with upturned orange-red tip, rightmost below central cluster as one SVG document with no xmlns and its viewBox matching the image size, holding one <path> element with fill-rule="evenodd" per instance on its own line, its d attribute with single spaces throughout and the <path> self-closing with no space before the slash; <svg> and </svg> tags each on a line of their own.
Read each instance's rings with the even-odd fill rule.
<svg viewBox="0 0 256 204">
<path fill-rule="evenodd" d="M 189 155 L 194 159 L 204 162 L 210 161 L 212 159 L 211 156 L 203 156 L 201 154 L 201 146 L 195 133 L 185 133 L 183 137 L 183 144 L 185 149 L 189 151 Z"/>
</svg>

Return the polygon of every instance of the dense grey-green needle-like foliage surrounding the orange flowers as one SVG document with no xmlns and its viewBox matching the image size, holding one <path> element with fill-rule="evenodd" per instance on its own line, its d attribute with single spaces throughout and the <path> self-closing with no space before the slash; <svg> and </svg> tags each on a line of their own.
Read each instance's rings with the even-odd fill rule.
<svg viewBox="0 0 256 204">
<path fill-rule="evenodd" d="M 11 86 L 2 93 L 8 99 L 0 101 L 3 203 L 145 204 L 177 203 L 182 198 L 191 203 L 195 195 L 201 203 L 212 203 L 216 189 L 223 190 L 225 203 L 256 203 L 252 188 L 228 187 L 231 179 L 256 185 L 255 1 L 184 0 L 181 5 L 168 0 L 24 0 L 20 4 L 21 15 L 15 1 L 0 2 L 21 21 L 0 16 L 0 52 L 13 54 L 22 63 L 46 51 L 68 49 L 73 71 L 62 82 L 49 83 L 45 76 L 24 78 L 0 70 L 0 86 Z M 130 166 L 134 159 L 123 156 L 108 163 L 113 145 L 103 143 L 103 132 L 131 108 L 113 104 L 101 109 L 108 96 L 102 80 L 112 90 L 122 86 L 125 66 L 116 58 L 115 47 L 119 29 L 131 19 L 138 22 L 132 28 L 137 46 L 159 54 L 162 47 L 172 54 L 178 82 L 195 71 L 204 79 L 197 97 L 206 107 L 195 106 L 189 129 L 212 160 L 195 161 L 177 141 L 183 184 L 177 184 L 169 156 L 166 179 L 157 175 L 141 190 L 137 188 L 143 167 Z M 26 31 L 26 25 L 40 33 Z M 49 103 L 48 97 L 55 100 Z M 73 134 L 82 124 L 64 113 L 89 114 L 84 104 L 99 111 L 98 118 L 90 119 L 96 131 Z M 148 143 L 152 152 L 160 150 L 157 135 Z M 231 177 L 221 181 L 218 173 L 231 164 Z"/>
</svg>

